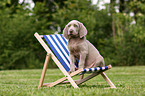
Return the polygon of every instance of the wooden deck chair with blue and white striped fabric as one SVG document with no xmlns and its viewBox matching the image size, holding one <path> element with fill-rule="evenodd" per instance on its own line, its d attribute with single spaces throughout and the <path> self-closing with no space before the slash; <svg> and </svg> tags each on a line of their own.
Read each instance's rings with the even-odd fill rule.
<svg viewBox="0 0 145 96">
<path fill-rule="evenodd" d="M 42 86 L 53 87 L 55 85 L 65 84 L 68 82 L 74 88 L 79 88 L 78 87 L 79 84 L 82 84 L 99 74 L 101 74 L 101 76 L 107 81 L 107 83 L 110 85 L 111 88 L 116 88 L 115 85 L 111 82 L 111 80 L 104 73 L 104 71 L 111 68 L 111 65 L 108 65 L 105 67 L 78 69 L 77 71 L 72 72 L 71 74 L 68 74 L 68 71 L 70 70 L 69 51 L 67 48 L 67 40 L 62 36 L 62 34 L 39 35 L 38 33 L 35 33 L 34 36 L 37 38 L 39 43 L 43 46 L 43 48 L 47 52 L 38 88 Z M 64 77 L 60 78 L 59 80 L 55 82 L 43 84 L 50 57 L 56 63 L 58 68 L 62 71 L 62 73 L 64 74 Z M 72 77 L 75 75 L 78 75 L 78 74 L 82 75 L 87 72 L 92 72 L 92 73 L 83 79 L 79 79 L 79 80 L 72 79 Z"/>
</svg>

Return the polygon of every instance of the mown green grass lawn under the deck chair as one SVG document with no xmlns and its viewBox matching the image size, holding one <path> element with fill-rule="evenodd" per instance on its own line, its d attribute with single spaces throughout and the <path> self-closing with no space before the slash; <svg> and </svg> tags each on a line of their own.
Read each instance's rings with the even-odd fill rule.
<svg viewBox="0 0 145 96">
<path fill-rule="evenodd" d="M 145 66 L 113 67 L 105 73 L 117 89 L 99 75 L 80 85 L 58 85 L 38 89 L 40 69 L 0 71 L 0 96 L 145 96 Z M 48 69 L 45 83 L 63 77 L 58 69 Z M 74 77 L 76 79 L 78 77 Z"/>
</svg>

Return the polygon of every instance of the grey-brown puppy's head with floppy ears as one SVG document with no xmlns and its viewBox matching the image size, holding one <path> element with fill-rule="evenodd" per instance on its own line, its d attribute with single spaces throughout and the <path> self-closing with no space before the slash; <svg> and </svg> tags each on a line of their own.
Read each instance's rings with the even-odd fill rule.
<svg viewBox="0 0 145 96">
<path fill-rule="evenodd" d="M 86 27 L 77 20 L 70 21 L 63 30 L 63 36 L 66 39 L 75 37 L 84 37 L 87 34 Z"/>
</svg>

